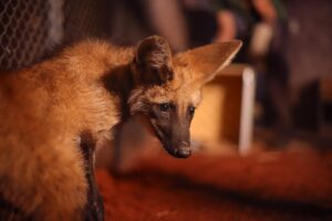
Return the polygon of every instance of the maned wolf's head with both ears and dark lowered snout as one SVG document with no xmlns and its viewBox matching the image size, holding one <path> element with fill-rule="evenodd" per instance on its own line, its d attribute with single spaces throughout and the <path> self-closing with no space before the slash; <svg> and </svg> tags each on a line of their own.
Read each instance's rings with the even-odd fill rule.
<svg viewBox="0 0 332 221">
<path fill-rule="evenodd" d="M 138 86 L 128 99 L 131 114 L 147 117 L 170 155 L 190 156 L 189 127 L 201 101 L 200 88 L 229 64 L 240 46 L 240 41 L 215 43 L 173 56 L 164 38 L 138 43 L 132 63 Z"/>
</svg>

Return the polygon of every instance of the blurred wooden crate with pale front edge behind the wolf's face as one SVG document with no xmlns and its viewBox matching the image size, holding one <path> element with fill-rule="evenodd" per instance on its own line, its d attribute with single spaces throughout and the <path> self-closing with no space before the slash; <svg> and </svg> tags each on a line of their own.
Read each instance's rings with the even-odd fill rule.
<svg viewBox="0 0 332 221">
<path fill-rule="evenodd" d="M 253 70 L 241 64 L 228 66 L 203 88 L 203 97 L 191 125 L 193 139 L 205 146 L 234 144 L 240 152 L 248 152 L 253 124 Z"/>
</svg>

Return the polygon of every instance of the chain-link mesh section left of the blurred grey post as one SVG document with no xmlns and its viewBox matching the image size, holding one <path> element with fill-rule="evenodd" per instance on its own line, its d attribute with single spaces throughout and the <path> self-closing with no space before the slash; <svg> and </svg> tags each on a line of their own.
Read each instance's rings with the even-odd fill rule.
<svg viewBox="0 0 332 221">
<path fill-rule="evenodd" d="M 44 0 L 0 1 L 0 66 L 11 70 L 39 60 L 48 41 L 48 10 Z"/>
</svg>

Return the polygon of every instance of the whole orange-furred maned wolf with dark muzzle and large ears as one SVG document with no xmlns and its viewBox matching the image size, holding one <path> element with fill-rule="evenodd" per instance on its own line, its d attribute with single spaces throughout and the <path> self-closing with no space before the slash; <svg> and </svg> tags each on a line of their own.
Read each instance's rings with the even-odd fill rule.
<svg viewBox="0 0 332 221">
<path fill-rule="evenodd" d="M 93 178 L 95 143 L 139 113 L 170 155 L 188 157 L 199 90 L 240 45 L 216 43 L 173 56 L 160 36 L 131 49 L 85 41 L 3 73 L 1 220 L 103 220 Z"/>
</svg>

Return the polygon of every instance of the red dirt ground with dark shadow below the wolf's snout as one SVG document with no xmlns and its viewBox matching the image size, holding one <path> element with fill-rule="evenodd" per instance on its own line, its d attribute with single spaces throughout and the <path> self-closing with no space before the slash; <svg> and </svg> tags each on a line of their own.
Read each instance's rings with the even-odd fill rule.
<svg viewBox="0 0 332 221">
<path fill-rule="evenodd" d="M 332 154 L 163 154 L 135 168 L 97 171 L 106 220 L 332 220 Z"/>
</svg>

